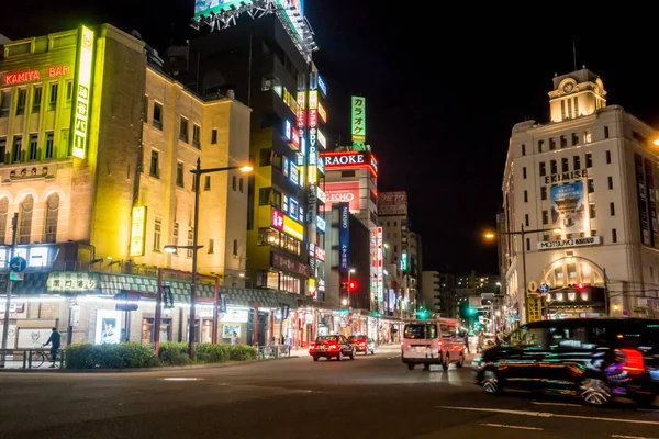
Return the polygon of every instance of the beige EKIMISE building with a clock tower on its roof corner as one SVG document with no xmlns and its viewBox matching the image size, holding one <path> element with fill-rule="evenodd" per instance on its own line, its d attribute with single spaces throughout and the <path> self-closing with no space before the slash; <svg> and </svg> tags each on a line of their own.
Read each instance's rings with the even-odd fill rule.
<svg viewBox="0 0 659 439">
<path fill-rule="evenodd" d="M 529 284 L 546 292 L 530 300 L 532 320 L 659 315 L 659 133 L 606 106 L 585 68 L 555 77 L 549 104 L 551 122 L 521 122 L 510 139 L 500 224 L 509 323 L 527 322 Z"/>
</svg>

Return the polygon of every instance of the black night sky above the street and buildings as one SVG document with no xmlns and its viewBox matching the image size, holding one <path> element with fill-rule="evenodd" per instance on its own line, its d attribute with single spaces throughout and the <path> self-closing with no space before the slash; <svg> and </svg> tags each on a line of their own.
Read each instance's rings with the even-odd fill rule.
<svg viewBox="0 0 659 439">
<path fill-rule="evenodd" d="M 193 37 L 193 0 L 10 4 L 0 13 L 0 33 L 10 38 L 110 22 L 138 30 L 164 54 L 171 42 Z M 573 16 L 554 7 L 528 16 L 516 11 L 506 22 L 493 15 L 505 11 L 481 10 L 479 19 L 437 4 L 305 1 L 320 46 L 314 60 L 330 92 L 326 136 L 346 144 L 349 95 L 365 95 L 379 189 L 407 191 L 423 268 L 496 273 L 496 246 L 483 243 L 481 233 L 495 224 L 513 125 L 548 120 L 551 78 L 573 69 L 576 43 L 578 67 L 585 64 L 602 77 L 608 104 L 658 126 L 659 33 L 654 23 L 627 20 L 623 7 L 615 16 L 599 8 Z"/>
</svg>

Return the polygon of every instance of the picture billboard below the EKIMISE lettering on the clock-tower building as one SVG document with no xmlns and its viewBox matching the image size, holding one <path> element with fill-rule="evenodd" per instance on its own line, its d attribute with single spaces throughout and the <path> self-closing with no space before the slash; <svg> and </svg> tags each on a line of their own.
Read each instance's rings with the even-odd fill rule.
<svg viewBox="0 0 659 439">
<path fill-rule="evenodd" d="M 590 234 L 583 181 L 551 187 L 551 222 L 561 234 Z"/>
</svg>

